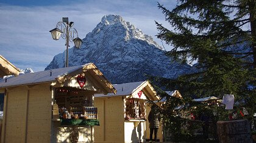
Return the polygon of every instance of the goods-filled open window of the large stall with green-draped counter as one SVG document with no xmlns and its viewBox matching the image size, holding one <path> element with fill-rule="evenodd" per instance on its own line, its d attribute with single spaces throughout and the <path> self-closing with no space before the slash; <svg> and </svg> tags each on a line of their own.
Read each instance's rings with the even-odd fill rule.
<svg viewBox="0 0 256 143">
<path fill-rule="evenodd" d="M 55 104 L 59 118 L 98 119 L 98 109 L 93 107 L 93 93 L 76 88 L 55 88 Z"/>
</svg>

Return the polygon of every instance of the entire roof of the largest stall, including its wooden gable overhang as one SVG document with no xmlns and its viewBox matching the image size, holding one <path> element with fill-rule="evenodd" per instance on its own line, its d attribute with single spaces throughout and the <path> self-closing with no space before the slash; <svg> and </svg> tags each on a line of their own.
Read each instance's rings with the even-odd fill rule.
<svg viewBox="0 0 256 143">
<path fill-rule="evenodd" d="M 77 74 L 85 73 L 90 77 L 90 81 L 101 89 L 102 93 L 116 93 L 113 85 L 107 81 L 105 76 L 93 64 L 78 65 L 74 67 L 56 68 L 52 70 L 38 71 L 35 73 L 26 73 L 17 77 L 7 78 L 7 81 L 0 81 L 0 88 L 16 87 L 20 85 L 41 84 L 47 82 L 55 82 L 61 84 Z"/>
</svg>

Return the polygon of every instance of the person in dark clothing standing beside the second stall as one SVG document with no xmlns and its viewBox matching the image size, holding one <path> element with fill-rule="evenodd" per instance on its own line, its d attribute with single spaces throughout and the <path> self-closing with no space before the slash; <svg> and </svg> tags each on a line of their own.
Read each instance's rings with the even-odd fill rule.
<svg viewBox="0 0 256 143">
<path fill-rule="evenodd" d="M 152 142 L 153 132 L 154 132 L 154 141 L 157 141 L 157 131 L 159 128 L 160 122 L 160 113 L 157 111 L 157 105 L 152 105 L 151 111 L 148 116 L 149 129 L 150 129 L 150 141 Z"/>
</svg>

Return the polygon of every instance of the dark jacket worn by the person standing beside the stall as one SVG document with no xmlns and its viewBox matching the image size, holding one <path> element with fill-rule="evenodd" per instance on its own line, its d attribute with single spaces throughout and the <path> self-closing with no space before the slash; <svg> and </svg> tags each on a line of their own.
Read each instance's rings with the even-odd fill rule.
<svg viewBox="0 0 256 143">
<path fill-rule="evenodd" d="M 160 122 L 160 113 L 154 110 L 149 112 L 148 121 L 149 121 L 149 128 L 159 128 Z"/>
</svg>

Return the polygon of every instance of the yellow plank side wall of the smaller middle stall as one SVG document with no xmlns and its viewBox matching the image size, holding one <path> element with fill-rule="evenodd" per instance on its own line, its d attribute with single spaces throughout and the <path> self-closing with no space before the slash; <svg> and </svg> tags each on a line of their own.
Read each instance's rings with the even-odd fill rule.
<svg viewBox="0 0 256 143">
<path fill-rule="evenodd" d="M 100 126 L 94 126 L 95 142 L 124 142 L 124 104 L 122 96 L 94 98 Z"/>
</svg>

